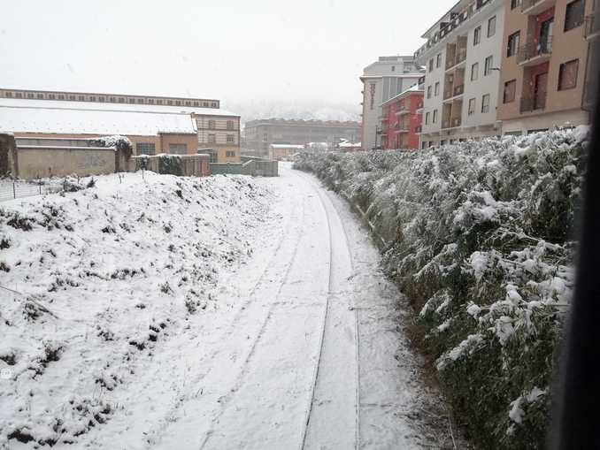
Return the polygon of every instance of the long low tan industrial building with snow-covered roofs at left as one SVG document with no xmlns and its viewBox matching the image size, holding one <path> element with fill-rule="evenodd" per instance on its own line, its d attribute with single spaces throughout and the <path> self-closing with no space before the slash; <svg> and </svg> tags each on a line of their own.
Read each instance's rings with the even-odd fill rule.
<svg viewBox="0 0 600 450">
<path fill-rule="evenodd" d="M 0 118 L 0 129 L 16 137 L 123 134 L 136 155 L 208 153 L 212 162 L 240 162 L 240 116 L 218 100 L 0 88 Z"/>
</svg>

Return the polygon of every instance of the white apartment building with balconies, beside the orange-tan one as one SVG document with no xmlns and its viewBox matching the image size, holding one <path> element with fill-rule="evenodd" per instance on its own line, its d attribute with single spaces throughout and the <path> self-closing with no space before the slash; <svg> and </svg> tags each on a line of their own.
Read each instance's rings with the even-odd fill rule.
<svg viewBox="0 0 600 450">
<path fill-rule="evenodd" d="M 501 134 L 496 120 L 504 0 L 461 0 L 423 34 L 421 148 Z"/>
</svg>

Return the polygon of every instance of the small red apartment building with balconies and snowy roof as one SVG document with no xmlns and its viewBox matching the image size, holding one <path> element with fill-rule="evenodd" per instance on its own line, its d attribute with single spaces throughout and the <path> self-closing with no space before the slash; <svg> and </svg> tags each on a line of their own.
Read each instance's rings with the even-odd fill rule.
<svg viewBox="0 0 600 450">
<path fill-rule="evenodd" d="M 381 104 L 383 149 L 419 149 L 423 88 L 414 85 Z"/>
</svg>

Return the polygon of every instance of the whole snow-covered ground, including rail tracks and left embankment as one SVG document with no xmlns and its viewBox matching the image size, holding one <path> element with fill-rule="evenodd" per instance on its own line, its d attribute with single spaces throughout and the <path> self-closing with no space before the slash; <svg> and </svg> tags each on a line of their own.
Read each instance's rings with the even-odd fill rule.
<svg viewBox="0 0 600 450">
<path fill-rule="evenodd" d="M 23 294 L 0 294 L 0 446 L 453 446 L 404 300 L 311 176 L 114 175 L 0 208 Z"/>
</svg>

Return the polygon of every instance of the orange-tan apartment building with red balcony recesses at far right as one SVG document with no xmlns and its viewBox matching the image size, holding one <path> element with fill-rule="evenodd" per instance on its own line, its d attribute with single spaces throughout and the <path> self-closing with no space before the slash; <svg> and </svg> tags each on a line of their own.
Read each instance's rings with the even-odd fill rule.
<svg viewBox="0 0 600 450">
<path fill-rule="evenodd" d="M 588 123 L 594 0 L 507 0 L 498 119 L 504 133 Z M 588 39 L 587 39 L 588 38 Z M 591 67 L 591 65 L 589 65 Z M 588 77 L 586 77 L 588 74 Z"/>
</svg>

